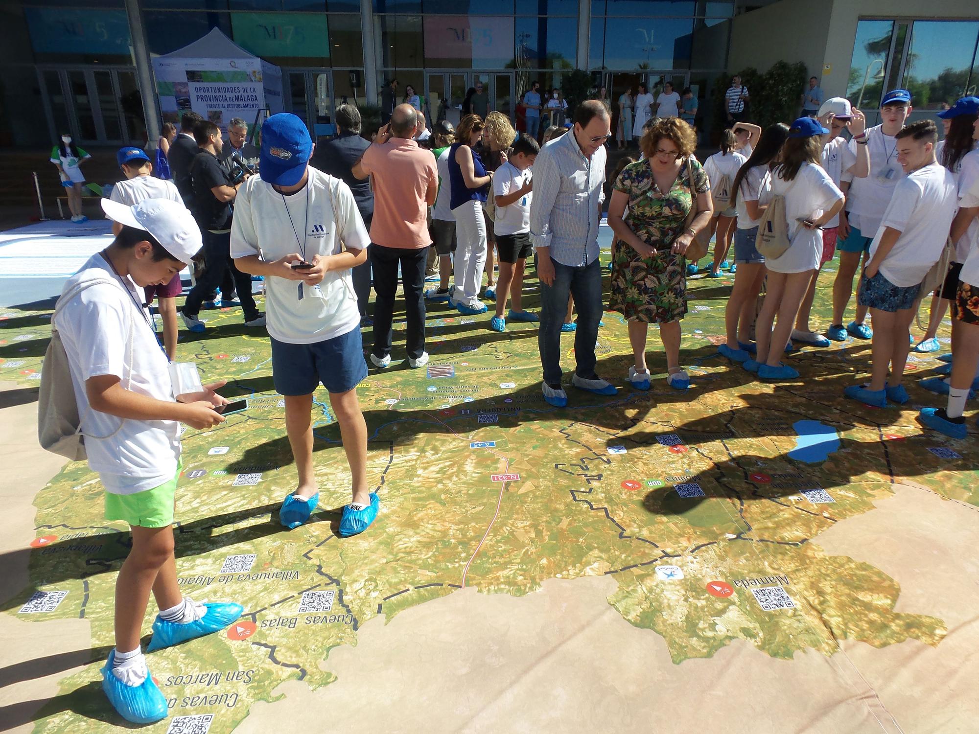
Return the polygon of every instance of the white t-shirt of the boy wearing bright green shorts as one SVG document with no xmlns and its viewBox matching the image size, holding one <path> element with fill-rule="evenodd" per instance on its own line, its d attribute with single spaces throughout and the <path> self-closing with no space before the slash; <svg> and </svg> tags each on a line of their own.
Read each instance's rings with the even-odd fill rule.
<svg viewBox="0 0 979 734">
<path fill-rule="evenodd" d="M 107 491 L 133 494 L 176 475 L 179 426 L 176 421 L 122 420 L 90 410 L 85 381 L 116 375 L 124 389 L 167 402 L 173 401 L 173 389 L 166 355 L 142 308 L 142 288 L 137 289 L 128 276 L 120 280 L 112 265 L 94 254 L 69 278 L 62 293 L 95 279 L 115 282 L 92 286 L 72 298 L 58 312 L 54 325 L 68 354 L 88 466 L 99 473 Z M 122 290 L 123 283 L 129 293 Z"/>
</svg>

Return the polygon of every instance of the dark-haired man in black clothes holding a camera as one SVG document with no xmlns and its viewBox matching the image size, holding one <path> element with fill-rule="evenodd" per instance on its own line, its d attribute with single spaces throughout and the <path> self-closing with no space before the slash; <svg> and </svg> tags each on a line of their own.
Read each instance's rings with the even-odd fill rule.
<svg viewBox="0 0 979 734">
<path fill-rule="evenodd" d="M 258 312 L 255 298 L 252 298 L 252 278 L 242 273 L 230 259 L 231 202 L 238 195 L 237 184 L 217 160 L 223 143 L 221 131 L 208 120 L 201 120 L 194 127 L 194 138 L 200 152 L 191 163 L 190 173 L 194 193 L 194 216 L 201 226 L 204 236 L 204 253 L 207 267 L 197 285 L 187 294 L 183 307 L 183 319 L 187 328 L 200 334 L 205 330 L 204 322 L 198 318 L 201 304 L 207 299 L 230 270 L 238 290 L 244 311 L 245 326 L 264 326 L 265 317 Z"/>
</svg>

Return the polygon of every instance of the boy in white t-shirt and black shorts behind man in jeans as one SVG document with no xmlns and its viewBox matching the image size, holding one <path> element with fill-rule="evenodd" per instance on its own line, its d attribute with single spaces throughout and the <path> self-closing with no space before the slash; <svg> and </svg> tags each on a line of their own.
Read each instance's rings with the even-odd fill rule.
<svg viewBox="0 0 979 734">
<path fill-rule="evenodd" d="M 524 264 L 534 247 L 531 245 L 531 200 L 534 165 L 540 146 L 524 135 L 510 149 L 510 158 L 496 169 L 492 178 L 493 203 L 496 218 L 496 251 L 499 252 L 499 280 L 496 287 L 496 313 L 489 322 L 494 332 L 506 331 L 506 298 L 510 297 L 510 312 L 514 321 L 539 321 L 536 313 L 524 310 Z"/>
</svg>

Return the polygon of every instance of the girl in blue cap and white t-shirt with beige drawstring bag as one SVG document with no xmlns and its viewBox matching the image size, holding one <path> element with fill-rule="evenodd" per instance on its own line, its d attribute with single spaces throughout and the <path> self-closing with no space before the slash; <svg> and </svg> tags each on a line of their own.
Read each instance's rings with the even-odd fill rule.
<svg viewBox="0 0 979 734">
<path fill-rule="evenodd" d="M 771 171 L 771 195 L 785 197 L 785 217 L 791 243 L 778 257 L 766 258 L 769 280 L 765 304 L 758 314 L 755 359 L 743 363 L 765 380 L 799 377 L 794 367 L 778 358 L 792 333 L 802 302 L 822 255 L 819 227 L 843 208 L 843 192 L 820 165 L 822 136 L 828 133 L 812 117 L 799 117 L 789 128 L 781 161 Z M 775 316 L 778 316 L 777 323 Z M 774 330 L 772 324 L 774 323 Z"/>
</svg>

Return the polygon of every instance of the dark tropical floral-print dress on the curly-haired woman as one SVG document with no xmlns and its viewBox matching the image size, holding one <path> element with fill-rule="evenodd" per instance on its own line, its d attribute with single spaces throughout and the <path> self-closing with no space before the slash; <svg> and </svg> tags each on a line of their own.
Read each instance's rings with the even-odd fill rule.
<svg viewBox="0 0 979 734">
<path fill-rule="evenodd" d="M 710 191 L 707 174 L 698 161 L 690 161 L 693 190 Z M 629 244 L 619 241 L 612 259 L 612 295 L 609 309 L 629 321 L 666 324 L 686 314 L 686 258 L 670 252 L 683 232 L 693 206 L 686 161 L 680 165 L 673 187 L 666 196 L 653 180 L 649 161 L 638 161 L 623 169 L 615 191 L 629 196 L 626 223 L 639 239 L 654 248 L 652 257 L 640 257 Z"/>
</svg>

